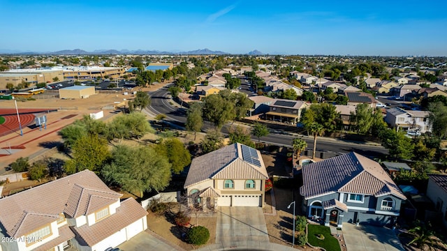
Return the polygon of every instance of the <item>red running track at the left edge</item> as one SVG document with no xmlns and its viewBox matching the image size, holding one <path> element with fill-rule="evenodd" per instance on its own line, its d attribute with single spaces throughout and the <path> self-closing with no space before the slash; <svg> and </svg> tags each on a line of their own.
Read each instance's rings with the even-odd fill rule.
<svg viewBox="0 0 447 251">
<path fill-rule="evenodd" d="M 34 114 L 47 112 L 48 109 L 19 109 L 20 123 L 22 128 L 34 122 Z M 5 122 L 0 125 L 0 136 L 20 130 L 17 112 L 15 109 L 0 109 L 0 116 L 5 118 Z"/>
</svg>

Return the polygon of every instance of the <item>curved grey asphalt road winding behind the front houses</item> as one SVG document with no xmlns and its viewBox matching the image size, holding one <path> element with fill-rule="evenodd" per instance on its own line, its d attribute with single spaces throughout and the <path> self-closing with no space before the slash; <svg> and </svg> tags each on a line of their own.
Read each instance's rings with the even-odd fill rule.
<svg viewBox="0 0 447 251">
<path fill-rule="evenodd" d="M 168 86 L 149 93 L 152 98 L 152 103 L 148 107 L 150 112 L 154 114 L 166 114 L 167 121 L 177 124 L 178 126 L 184 126 L 186 122 L 186 109 L 173 107 L 170 105 L 170 94 L 168 92 Z M 205 129 L 212 128 L 210 123 L 205 122 Z M 223 127 L 222 132 L 228 134 L 228 124 Z M 275 144 L 279 146 L 291 146 L 292 139 L 295 137 L 302 137 L 307 142 L 308 149 L 313 149 L 314 140 L 313 137 L 307 137 L 305 135 L 291 134 L 284 132 L 284 134 L 270 132 L 269 135 L 261 137 L 261 142 L 268 144 Z M 256 142 L 258 139 L 253 138 Z M 318 137 L 316 142 L 316 151 L 329 151 L 334 153 L 349 153 L 350 151 L 356 151 L 361 155 L 369 157 L 377 157 L 384 154 L 388 154 L 388 150 L 383 146 L 362 144 L 357 142 L 346 142 L 344 140 L 337 140 L 332 138 Z"/>
</svg>

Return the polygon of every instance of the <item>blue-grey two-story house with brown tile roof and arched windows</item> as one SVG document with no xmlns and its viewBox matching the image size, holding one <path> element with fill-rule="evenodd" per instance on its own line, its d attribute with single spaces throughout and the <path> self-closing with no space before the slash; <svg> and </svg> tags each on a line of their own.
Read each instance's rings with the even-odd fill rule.
<svg viewBox="0 0 447 251">
<path fill-rule="evenodd" d="M 406 199 L 378 162 L 346 153 L 302 167 L 302 211 L 325 225 L 393 224 Z"/>
</svg>

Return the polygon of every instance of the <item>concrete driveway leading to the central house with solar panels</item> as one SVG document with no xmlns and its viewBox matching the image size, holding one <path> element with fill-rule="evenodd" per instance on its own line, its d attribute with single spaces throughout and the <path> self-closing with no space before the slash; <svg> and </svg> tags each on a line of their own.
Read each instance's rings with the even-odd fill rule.
<svg viewBox="0 0 447 251">
<path fill-rule="evenodd" d="M 263 208 L 220 207 L 216 244 L 221 248 L 264 248 L 270 243 Z"/>
</svg>

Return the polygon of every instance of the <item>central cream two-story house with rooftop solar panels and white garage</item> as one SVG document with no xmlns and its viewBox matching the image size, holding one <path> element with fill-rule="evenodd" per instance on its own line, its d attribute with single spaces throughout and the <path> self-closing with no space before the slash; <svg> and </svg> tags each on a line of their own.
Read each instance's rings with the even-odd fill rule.
<svg viewBox="0 0 447 251">
<path fill-rule="evenodd" d="M 268 178 L 261 153 L 235 143 L 194 158 L 184 189 L 189 204 L 204 211 L 219 206 L 264 207 Z"/>
</svg>

